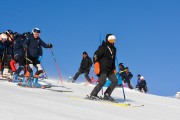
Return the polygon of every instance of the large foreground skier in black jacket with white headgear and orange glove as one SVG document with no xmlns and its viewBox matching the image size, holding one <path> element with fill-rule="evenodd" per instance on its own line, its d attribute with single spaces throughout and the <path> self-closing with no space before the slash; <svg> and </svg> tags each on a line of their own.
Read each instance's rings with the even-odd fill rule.
<svg viewBox="0 0 180 120">
<path fill-rule="evenodd" d="M 111 85 L 106 89 L 104 93 L 104 99 L 114 101 L 111 97 L 111 93 L 117 86 L 118 80 L 115 76 L 115 56 L 116 48 L 114 47 L 115 36 L 113 34 L 106 35 L 106 42 L 103 41 L 102 45 L 99 46 L 98 50 L 94 53 L 93 62 L 100 63 L 100 81 L 99 84 L 92 90 L 90 94 L 90 99 L 99 99 L 98 93 L 106 83 L 106 79 L 111 80 Z"/>
</svg>

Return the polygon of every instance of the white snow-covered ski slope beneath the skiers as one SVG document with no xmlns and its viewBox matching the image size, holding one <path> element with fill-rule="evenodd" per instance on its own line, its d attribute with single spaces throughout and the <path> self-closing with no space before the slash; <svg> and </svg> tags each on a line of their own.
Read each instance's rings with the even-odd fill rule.
<svg viewBox="0 0 180 120">
<path fill-rule="evenodd" d="M 0 81 L 1 120 L 179 120 L 180 100 L 116 88 L 112 96 L 122 103 L 143 107 L 122 107 L 112 103 L 84 100 L 93 85 L 67 83 L 64 86 L 53 80 L 58 92 L 23 88 L 7 81 Z M 104 88 L 105 89 L 105 88 Z"/>
</svg>

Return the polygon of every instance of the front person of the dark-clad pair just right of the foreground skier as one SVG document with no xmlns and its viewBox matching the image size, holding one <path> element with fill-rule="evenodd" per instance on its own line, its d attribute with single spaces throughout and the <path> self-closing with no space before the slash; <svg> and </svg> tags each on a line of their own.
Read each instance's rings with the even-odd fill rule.
<svg viewBox="0 0 180 120">
<path fill-rule="evenodd" d="M 129 68 L 126 67 L 126 68 L 125 68 L 124 77 L 123 77 L 122 80 L 123 80 L 124 83 L 127 83 L 127 84 L 128 84 L 128 87 L 129 87 L 130 89 L 133 89 L 133 87 L 132 87 L 132 85 L 131 85 L 131 79 L 132 79 L 132 77 L 133 77 L 133 74 L 129 71 Z"/>
</svg>

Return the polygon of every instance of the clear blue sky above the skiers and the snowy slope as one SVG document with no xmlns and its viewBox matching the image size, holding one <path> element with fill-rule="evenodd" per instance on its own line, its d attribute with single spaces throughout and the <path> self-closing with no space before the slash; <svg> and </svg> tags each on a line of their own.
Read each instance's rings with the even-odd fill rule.
<svg viewBox="0 0 180 120">
<path fill-rule="evenodd" d="M 4 0 L 0 31 L 40 28 L 41 38 L 54 45 L 63 78 L 77 72 L 83 51 L 93 56 L 100 35 L 113 33 L 118 60 L 130 68 L 134 85 L 140 73 L 150 93 L 172 96 L 180 91 L 179 6 L 179 0 Z M 59 79 L 50 50 L 44 49 L 42 62 Z"/>
</svg>

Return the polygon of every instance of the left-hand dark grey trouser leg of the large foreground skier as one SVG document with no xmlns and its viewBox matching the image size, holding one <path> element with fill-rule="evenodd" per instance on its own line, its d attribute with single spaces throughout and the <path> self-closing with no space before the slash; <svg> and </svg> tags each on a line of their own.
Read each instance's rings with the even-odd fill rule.
<svg viewBox="0 0 180 120">
<path fill-rule="evenodd" d="M 92 90 L 91 96 L 97 96 L 98 95 L 99 91 L 102 89 L 102 87 L 106 83 L 106 78 L 107 78 L 107 74 L 105 74 L 105 73 L 100 74 L 100 81 L 96 85 L 96 87 Z"/>
</svg>

